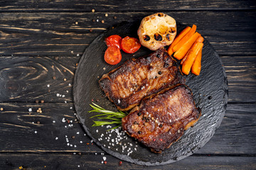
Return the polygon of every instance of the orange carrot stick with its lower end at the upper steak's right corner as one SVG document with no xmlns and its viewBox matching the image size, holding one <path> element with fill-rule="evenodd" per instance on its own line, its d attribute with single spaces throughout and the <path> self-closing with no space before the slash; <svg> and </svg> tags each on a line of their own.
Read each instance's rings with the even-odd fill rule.
<svg viewBox="0 0 256 170">
<path fill-rule="evenodd" d="M 189 72 L 191 71 L 192 64 L 202 47 L 203 47 L 202 42 L 196 42 L 195 45 L 193 45 L 193 47 L 191 48 L 188 54 L 188 57 L 186 58 L 185 62 L 182 64 L 181 70 L 184 74 L 186 75 L 189 74 Z"/>
</svg>

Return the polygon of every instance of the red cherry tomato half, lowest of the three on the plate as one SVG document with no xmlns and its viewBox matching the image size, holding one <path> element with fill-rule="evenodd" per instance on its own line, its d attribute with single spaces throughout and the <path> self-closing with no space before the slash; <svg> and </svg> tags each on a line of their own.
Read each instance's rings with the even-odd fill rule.
<svg viewBox="0 0 256 170">
<path fill-rule="evenodd" d="M 108 64 L 114 65 L 122 60 L 122 55 L 118 47 L 110 46 L 105 51 L 104 60 Z"/>
</svg>

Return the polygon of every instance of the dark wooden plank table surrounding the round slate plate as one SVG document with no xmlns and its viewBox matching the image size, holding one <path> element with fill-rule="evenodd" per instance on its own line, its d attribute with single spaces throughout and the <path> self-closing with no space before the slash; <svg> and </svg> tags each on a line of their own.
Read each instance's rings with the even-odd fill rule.
<svg viewBox="0 0 256 170">
<path fill-rule="evenodd" d="M 228 76 L 227 111 L 191 157 L 120 166 L 76 119 L 75 70 L 102 31 L 160 11 L 196 24 L 218 52 Z M 255 21 L 256 3 L 245 0 L 0 1 L 0 169 L 256 169 Z"/>
</svg>

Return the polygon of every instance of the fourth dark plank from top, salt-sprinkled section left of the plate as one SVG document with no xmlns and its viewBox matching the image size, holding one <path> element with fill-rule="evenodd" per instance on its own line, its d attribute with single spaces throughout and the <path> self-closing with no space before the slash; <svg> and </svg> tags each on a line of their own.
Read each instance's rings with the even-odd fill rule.
<svg viewBox="0 0 256 170">
<path fill-rule="evenodd" d="M 102 152 L 85 135 L 73 103 L 1 103 L 0 108 L 1 152 Z"/>
</svg>

